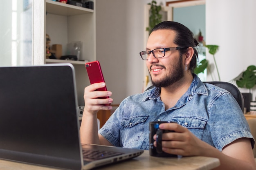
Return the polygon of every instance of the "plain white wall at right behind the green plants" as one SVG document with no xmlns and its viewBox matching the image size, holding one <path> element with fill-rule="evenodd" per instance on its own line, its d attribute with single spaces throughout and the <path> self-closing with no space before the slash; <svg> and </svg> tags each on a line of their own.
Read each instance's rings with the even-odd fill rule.
<svg viewBox="0 0 256 170">
<path fill-rule="evenodd" d="M 220 46 L 215 57 L 222 81 L 229 82 L 247 66 L 256 65 L 255 7 L 255 0 L 206 0 L 206 42 Z M 207 59 L 213 63 L 213 57 L 207 55 Z"/>
</svg>

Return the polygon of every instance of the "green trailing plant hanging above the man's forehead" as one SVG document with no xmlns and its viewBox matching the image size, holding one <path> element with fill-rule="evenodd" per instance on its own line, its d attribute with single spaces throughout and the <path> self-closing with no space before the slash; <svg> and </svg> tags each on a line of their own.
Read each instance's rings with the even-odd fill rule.
<svg viewBox="0 0 256 170">
<path fill-rule="evenodd" d="M 146 28 L 146 31 L 151 33 L 151 30 L 156 24 L 159 24 L 162 22 L 162 14 L 160 14 L 160 11 L 162 7 L 160 5 L 157 5 L 157 2 L 155 0 L 152 0 L 151 3 L 148 3 L 150 5 L 150 15 L 149 15 L 149 26 Z"/>
</svg>

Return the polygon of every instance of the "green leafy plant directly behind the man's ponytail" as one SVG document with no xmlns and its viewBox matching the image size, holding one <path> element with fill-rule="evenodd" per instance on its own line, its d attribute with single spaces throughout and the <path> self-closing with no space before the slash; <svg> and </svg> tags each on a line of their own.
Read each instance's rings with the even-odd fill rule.
<svg viewBox="0 0 256 170">
<path fill-rule="evenodd" d="M 217 70 L 217 73 L 218 73 L 218 78 L 219 78 L 219 81 L 220 81 L 220 73 L 219 73 L 219 70 L 218 70 L 218 67 L 217 67 L 217 63 L 216 63 L 216 60 L 215 60 L 215 53 L 218 51 L 219 49 L 219 46 L 218 45 L 205 45 L 205 47 L 209 50 L 209 53 L 211 55 L 213 55 L 213 60 L 214 60 L 214 64 L 215 64 L 215 67 L 216 67 L 216 70 Z M 198 74 L 198 73 L 204 73 L 204 70 L 208 68 L 208 60 L 204 59 L 202 60 L 198 65 L 197 67 L 194 69 L 194 73 L 195 74 Z M 208 68 L 208 71 L 211 75 L 211 71 L 210 69 Z M 211 75 L 212 79 L 213 79 L 213 76 Z"/>
</svg>

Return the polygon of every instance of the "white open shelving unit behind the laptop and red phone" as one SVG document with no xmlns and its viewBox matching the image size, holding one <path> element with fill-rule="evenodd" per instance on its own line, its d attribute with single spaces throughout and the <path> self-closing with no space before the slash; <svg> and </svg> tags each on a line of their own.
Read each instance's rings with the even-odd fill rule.
<svg viewBox="0 0 256 170">
<path fill-rule="evenodd" d="M 95 0 L 91 0 L 94 2 Z M 84 106 L 83 91 L 90 84 L 85 63 L 96 60 L 96 15 L 94 9 L 77 7 L 52 0 L 45 0 L 45 33 L 50 45 L 61 44 L 62 55 L 67 54 L 67 44 L 82 42 L 81 58 L 84 61 L 54 60 L 44 58 L 45 64 L 71 63 L 75 68 L 78 105 Z"/>
</svg>

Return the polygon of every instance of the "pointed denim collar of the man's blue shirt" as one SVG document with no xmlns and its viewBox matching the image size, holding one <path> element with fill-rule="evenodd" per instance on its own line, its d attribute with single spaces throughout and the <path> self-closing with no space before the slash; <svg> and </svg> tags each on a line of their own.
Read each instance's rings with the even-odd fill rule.
<svg viewBox="0 0 256 170">
<path fill-rule="evenodd" d="M 201 95 L 208 95 L 208 91 L 206 86 L 203 84 L 203 82 L 200 80 L 200 78 L 193 73 L 193 81 L 191 85 L 189 86 L 189 89 L 186 91 L 182 97 L 180 97 L 179 102 L 182 102 L 183 104 L 189 102 L 193 98 L 195 94 L 201 94 Z M 159 87 L 153 87 L 151 91 L 146 91 L 146 96 L 143 99 L 143 101 L 146 101 L 147 99 L 160 99 L 160 88 Z"/>
</svg>

